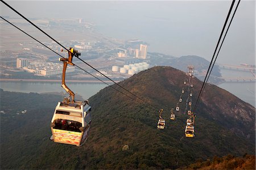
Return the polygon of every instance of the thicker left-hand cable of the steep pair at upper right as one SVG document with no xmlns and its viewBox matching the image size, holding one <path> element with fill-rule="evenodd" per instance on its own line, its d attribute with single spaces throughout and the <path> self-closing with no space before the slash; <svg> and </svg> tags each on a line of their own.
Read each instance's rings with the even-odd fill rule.
<svg viewBox="0 0 256 170">
<path fill-rule="evenodd" d="M 193 110 L 194 110 L 194 112 L 195 112 L 195 108 L 196 108 L 196 106 L 197 106 L 197 104 L 198 104 L 198 102 L 199 102 L 199 99 L 200 99 L 200 97 L 201 97 L 201 93 L 203 92 L 203 88 L 204 88 L 204 86 L 205 86 L 205 82 L 206 82 L 206 79 L 207 79 L 208 73 L 209 73 L 209 71 L 210 71 L 210 67 L 211 67 L 211 65 L 212 65 L 212 63 L 213 63 L 213 59 L 214 59 L 215 53 L 217 52 L 218 45 L 220 44 L 220 40 L 221 40 L 222 35 L 223 35 L 223 32 L 224 32 L 224 30 L 225 30 L 226 23 L 228 23 L 229 16 L 230 16 L 230 13 L 231 13 L 231 11 L 232 11 L 232 9 L 233 9 L 234 2 L 235 2 L 235 1 L 236 1 L 236 0 L 233 0 L 233 1 L 232 1 L 232 4 L 231 4 L 230 9 L 229 9 L 229 13 L 228 13 L 228 15 L 226 16 L 226 20 L 225 20 L 224 26 L 223 26 L 222 31 L 221 31 L 221 34 L 220 34 L 220 38 L 218 39 L 218 43 L 217 43 L 216 48 L 215 48 L 215 50 L 214 50 L 214 53 L 213 53 L 213 56 L 212 56 L 212 60 L 210 61 L 210 65 L 209 65 L 209 68 L 208 68 L 207 74 L 206 74 L 206 76 L 205 76 L 205 78 L 204 78 L 204 82 L 203 82 L 203 85 L 202 85 L 202 87 L 201 87 L 201 90 L 200 90 L 199 96 L 197 97 L 196 105 L 195 105 L 195 107 L 194 107 L 194 109 L 193 109 Z"/>
</svg>

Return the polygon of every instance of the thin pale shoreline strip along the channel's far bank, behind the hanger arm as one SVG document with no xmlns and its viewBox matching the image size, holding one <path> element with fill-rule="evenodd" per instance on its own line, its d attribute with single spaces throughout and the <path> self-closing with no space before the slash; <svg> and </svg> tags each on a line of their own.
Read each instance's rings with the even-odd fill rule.
<svg viewBox="0 0 256 170">
<path fill-rule="evenodd" d="M 0 78 L 1 81 L 6 81 L 6 82 L 60 82 L 61 80 L 44 80 L 44 79 L 22 79 L 22 78 Z M 102 80 L 103 81 L 103 80 Z M 97 84 L 104 84 L 103 82 L 99 80 L 65 80 L 65 82 L 77 82 L 77 83 L 97 83 Z M 110 80 L 104 80 L 106 83 L 113 83 Z M 119 81 L 115 81 L 119 82 Z"/>
</svg>

